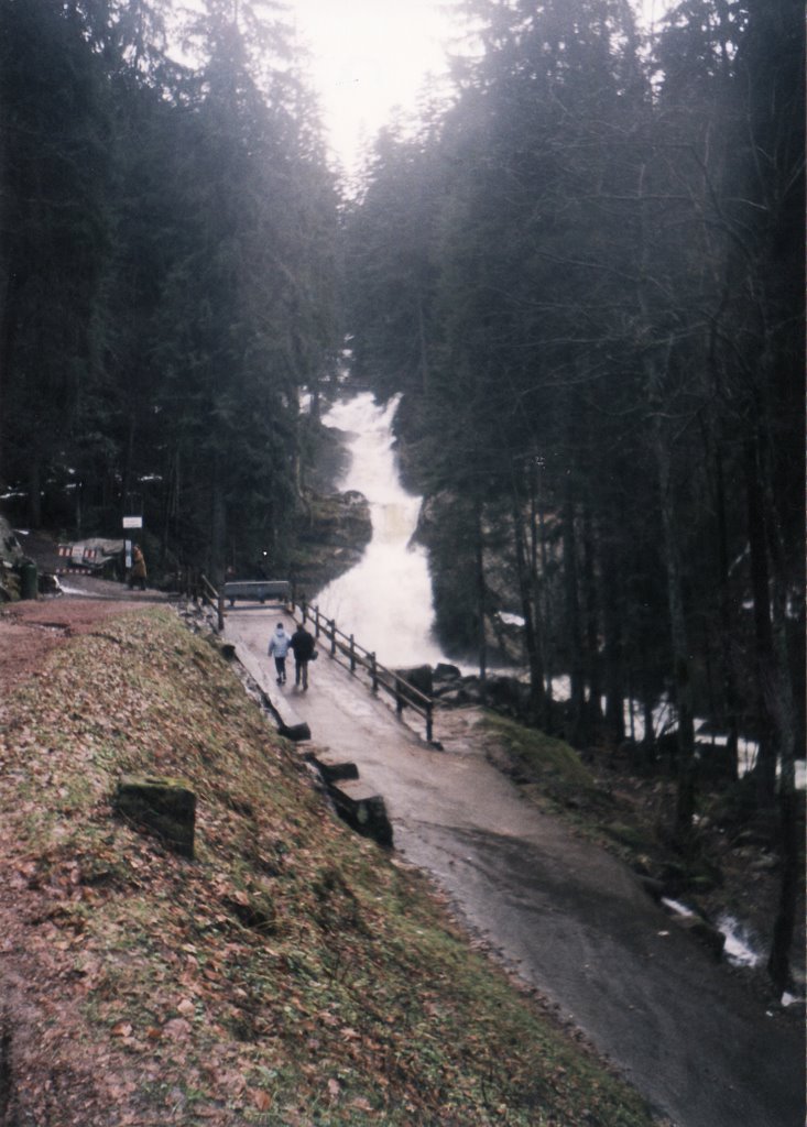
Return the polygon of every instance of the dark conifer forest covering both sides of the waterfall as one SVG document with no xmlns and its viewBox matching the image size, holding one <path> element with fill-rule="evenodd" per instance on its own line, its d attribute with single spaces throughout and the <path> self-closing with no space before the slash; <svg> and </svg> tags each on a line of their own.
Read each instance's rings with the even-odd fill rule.
<svg viewBox="0 0 807 1127">
<path fill-rule="evenodd" d="M 5 505 L 282 568 L 349 363 L 402 396 L 446 650 L 484 669 L 515 612 L 532 722 L 559 673 L 576 746 L 668 699 L 680 834 L 697 716 L 735 774 L 759 742 L 795 834 L 801 5 L 683 0 L 653 37 L 628 0 L 454 8 L 451 97 L 348 193 L 276 6 L 0 0 Z"/>
</svg>

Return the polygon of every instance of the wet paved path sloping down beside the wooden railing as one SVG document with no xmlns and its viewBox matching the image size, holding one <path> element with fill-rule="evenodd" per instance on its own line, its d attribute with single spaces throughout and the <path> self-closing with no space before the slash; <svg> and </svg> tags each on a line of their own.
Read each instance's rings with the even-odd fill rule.
<svg viewBox="0 0 807 1127">
<path fill-rule="evenodd" d="M 271 693 L 281 618 L 237 606 L 227 619 Z M 397 850 L 676 1127 L 802 1127 L 801 1030 L 766 1014 L 624 866 L 526 804 L 485 760 L 472 711 L 437 713 L 436 751 L 327 653 L 308 693 L 283 694 L 312 743 L 384 797 Z"/>
</svg>

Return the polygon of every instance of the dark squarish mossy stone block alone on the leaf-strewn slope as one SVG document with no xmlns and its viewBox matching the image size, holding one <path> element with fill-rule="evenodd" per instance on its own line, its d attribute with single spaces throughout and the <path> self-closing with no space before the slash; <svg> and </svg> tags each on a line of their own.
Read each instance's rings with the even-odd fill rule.
<svg viewBox="0 0 807 1127">
<path fill-rule="evenodd" d="M 124 775 L 114 798 L 117 814 L 193 860 L 196 796 L 178 779 Z"/>
</svg>

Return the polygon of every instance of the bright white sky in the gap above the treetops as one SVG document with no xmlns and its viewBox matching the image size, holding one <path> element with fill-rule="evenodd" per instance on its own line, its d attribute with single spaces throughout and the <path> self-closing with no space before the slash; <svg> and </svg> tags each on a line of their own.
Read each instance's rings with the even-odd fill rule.
<svg viewBox="0 0 807 1127">
<path fill-rule="evenodd" d="M 337 158 L 349 174 L 392 109 L 416 108 L 426 74 L 445 72 L 456 35 L 441 0 L 286 0 L 312 53 L 311 78 Z M 669 0 L 641 0 L 646 23 Z"/>
</svg>

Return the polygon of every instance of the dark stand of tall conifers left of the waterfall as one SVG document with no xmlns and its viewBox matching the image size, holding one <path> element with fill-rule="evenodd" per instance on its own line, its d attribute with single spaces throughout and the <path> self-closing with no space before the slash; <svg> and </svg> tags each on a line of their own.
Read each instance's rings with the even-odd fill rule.
<svg viewBox="0 0 807 1127">
<path fill-rule="evenodd" d="M 275 5 L 2 0 L 0 479 L 33 524 L 283 566 L 338 350 L 335 177 Z"/>
</svg>

